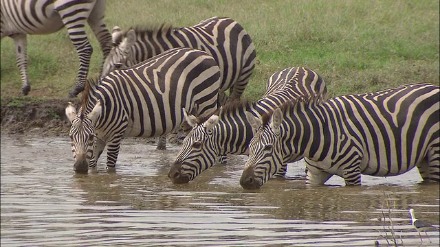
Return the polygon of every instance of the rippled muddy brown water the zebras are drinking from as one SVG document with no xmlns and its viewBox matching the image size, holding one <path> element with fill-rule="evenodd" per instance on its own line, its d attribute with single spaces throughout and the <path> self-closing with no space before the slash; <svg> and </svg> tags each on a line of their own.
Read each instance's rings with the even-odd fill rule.
<svg viewBox="0 0 440 247">
<path fill-rule="evenodd" d="M 410 225 L 408 207 L 439 225 L 439 185 L 421 185 L 415 169 L 307 188 L 299 161 L 287 178 L 245 191 L 246 156 L 173 185 L 166 174 L 178 150 L 126 139 L 115 174 L 104 153 L 98 173 L 79 176 L 67 136 L 2 135 L 1 246 L 386 246 L 392 233 L 402 246 L 439 246 L 439 231 L 421 242 Z"/>
</svg>

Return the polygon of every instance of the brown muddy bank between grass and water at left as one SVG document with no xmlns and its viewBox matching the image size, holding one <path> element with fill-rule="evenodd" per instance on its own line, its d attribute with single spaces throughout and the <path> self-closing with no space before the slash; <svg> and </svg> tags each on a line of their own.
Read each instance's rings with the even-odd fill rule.
<svg viewBox="0 0 440 247">
<path fill-rule="evenodd" d="M 70 122 L 65 116 L 69 102 L 79 105 L 78 99 L 36 99 L 11 97 L 2 99 L 1 134 L 41 134 L 43 136 L 67 136 Z M 176 131 L 167 135 L 169 143 L 180 144 L 185 134 Z M 156 142 L 157 139 L 149 139 Z"/>
</svg>

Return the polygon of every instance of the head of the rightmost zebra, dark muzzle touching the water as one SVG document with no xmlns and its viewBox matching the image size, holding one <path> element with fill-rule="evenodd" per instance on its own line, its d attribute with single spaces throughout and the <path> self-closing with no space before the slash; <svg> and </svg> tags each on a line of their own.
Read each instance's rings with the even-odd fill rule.
<svg viewBox="0 0 440 247">
<path fill-rule="evenodd" d="M 249 144 L 249 158 L 240 185 L 243 189 L 259 189 L 283 168 L 280 128 L 283 114 L 280 108 L 276 108 L 268 124 L 263 124 L 252 113 L 247 112 L 246 118 L 257 132 Z"/>
</svg>

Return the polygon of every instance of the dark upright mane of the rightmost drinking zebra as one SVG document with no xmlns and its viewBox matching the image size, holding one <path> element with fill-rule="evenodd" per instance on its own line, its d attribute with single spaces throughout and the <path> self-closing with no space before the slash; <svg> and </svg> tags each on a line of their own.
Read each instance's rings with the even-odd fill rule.
<svg viewBox="0 0 440 247">
<path fill-rule="evenodd" d="M 296 99 L 291 99 L 287 102 L 284 102 L 283 104 L 281 104 L 281 106 L 279 106 L 279 108 L 283 113 L 291 112 L 291 111 L 293 112 L 304 111 L 307 108 L 311 108 L 313 106 L 321 104 L 325 100 L 323 97 L 324 95 L 322 95 L 322 93 L 302 95 Z M 270 113 L 265 113 L 261 116 L 261 120 L 263 121 L 262 124 L 263 126 L 269 124 L 270 119 L 274 113 L 274 110 L 272 110 Z"/>
</svg>

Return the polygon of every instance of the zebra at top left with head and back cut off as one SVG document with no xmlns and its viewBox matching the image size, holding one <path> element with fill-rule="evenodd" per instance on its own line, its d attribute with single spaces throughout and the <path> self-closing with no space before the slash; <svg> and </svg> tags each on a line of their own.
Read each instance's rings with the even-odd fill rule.
<svg viewBox="0 0 440 247">
<path fill-rule="evenodd" d="M 76 86 L 69 97 L 83 91 L 89 71 L 92 47 L 87 39 L 85 23 L 89 23 L 100 43 L 104 58 L 111 50 L 111 34 L 104 23 L 106 0 L 1 0 L 0 34 L 9 36 L 17 49 L 16 64 L 22 81 L 22 93 L 28 95 L 27 34 L 52 34 L 65 27 L 76 48 L 80 67 Z"/>
</svg>

